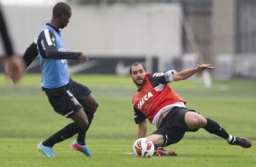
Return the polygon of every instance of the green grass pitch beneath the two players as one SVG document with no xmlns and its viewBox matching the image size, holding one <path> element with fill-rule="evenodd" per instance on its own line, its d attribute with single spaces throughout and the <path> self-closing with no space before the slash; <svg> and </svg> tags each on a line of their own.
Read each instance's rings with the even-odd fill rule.
<svg viewBox="0 0 256 167">
<path fill-rule="evenodd" d="M 40 88 L 40 75 L 26 75 L 12 86 L 0 75 L 0 166 L 72 167 L 251 167 L 256 166 L 256 149 L 230 146 L 222 139 L 200 130 L 186 133 L 182 142 L 167 147 L 177 157 L 136 158 L 132 151 L 137 126 L 133 123 L 132 95 L 135 86 L 129 77 L 113 75 L 74 75 L 88 85 L 100 103 L 94 123 L 87 133 L 93 158 L 70 148 L 73 139 L 54 146 L 56 157 L 47 159 L 36 145 L 70 123 L 54 113 Z M 187 107 L 210 117 L 231 134 L 256 140 L 256 81 L 214 81 L 205 88 L 201 80 L 172 83 L 172 88 L 187 101 Z M 153 132 L 149 125 L 149 133 Z"/>
</svg>

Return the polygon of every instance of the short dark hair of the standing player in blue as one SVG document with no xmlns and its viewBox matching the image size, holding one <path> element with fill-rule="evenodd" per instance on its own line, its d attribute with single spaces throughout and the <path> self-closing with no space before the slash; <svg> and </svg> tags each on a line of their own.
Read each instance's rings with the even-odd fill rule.
<svg viewBox="0 0 256 167">
<path fill-rule="evenodd" d="M 62 15 L 70 15 L 71 7 L 64 2 L 59 2 L 54 5 L 53 8 L 53 17 L 58 18 Z"/>
</svg>

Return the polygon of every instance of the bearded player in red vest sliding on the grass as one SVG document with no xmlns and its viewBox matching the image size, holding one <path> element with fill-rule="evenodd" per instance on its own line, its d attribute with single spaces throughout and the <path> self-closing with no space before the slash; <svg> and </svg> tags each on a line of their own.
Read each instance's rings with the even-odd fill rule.
<svg viewBox="0 0 256 167">
<path fill-rule="evenodd" d="M 213 68 L 212 64 L 201 64 L 180 73 L 170 70 L 165 73 L 146 74 L 143 64 L 136 62 L 131 66 L 131 78 L 138 87 L 133 95 L 133 118 L 139 125 L 138 137 L 145 137 L 148 119 L 157 128 L 147 137 L 154 143 L 156 155 L 176 155 L 175 152 L 168 152 L 162 148 L 181 141 L 186 132 L 196 132 L 200 128 L 222 137 L 231 145 L 251 147 L 252 142 L 249 139 L 231 136 L 219 123 L 187 109 L 186 102 L 168 84 Z"/>
</svg>

